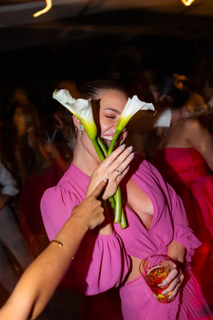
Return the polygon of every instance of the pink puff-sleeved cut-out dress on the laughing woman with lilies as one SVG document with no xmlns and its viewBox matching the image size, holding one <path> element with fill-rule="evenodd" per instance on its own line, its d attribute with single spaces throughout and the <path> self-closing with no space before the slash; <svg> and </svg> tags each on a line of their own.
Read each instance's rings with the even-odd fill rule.
<svg viewBox="0 0 213 320">
<path fill-rule="evenodd" d="M 132 179 L 152 201 L 150 230 L 126 207 L 129 224 L 126 229 L 114 224 L 112 235 L 87 233 L 69 270 L 70 286 L 85 295 L 119 286 L 123 317 L 128 320 L 210 319 L 211 311 L 190 271 L 191 255 L 200 242 L 188 227 L 182 201 L 156 168 L 139 154 L 135 155 L 125 179 Z M 57 235 L 73 207 L 85 199 L 89 181 L 84 172 L 71 164 L 58 185 L 45 191 L 41 212 L 49 240 Z M 128 255 L 143 259 L 150 254 L 166 254 L 172 240 L 186 247 L 185 284 L 171 303 L 161 304 L 142 276 L 125 281 L 130 270 Z"/>
</svg>

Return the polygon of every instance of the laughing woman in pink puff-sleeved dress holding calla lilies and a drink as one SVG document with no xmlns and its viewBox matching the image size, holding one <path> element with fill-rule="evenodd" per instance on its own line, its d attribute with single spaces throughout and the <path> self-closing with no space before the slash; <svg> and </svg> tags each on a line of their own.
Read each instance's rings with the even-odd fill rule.
<svg viewBox="0 0 213 320">
<path fill-rule="evenodd" d="M 87 85 L 84 96 L 100 103 L 99 134 L 109 146 L 127 102 L 126 94 L 116 84 L 98 81 Z M 80 122 L 76 117 L 73 120 L 79 133 Z M 210 319 L 211 311 L 189 264 L 200 242 L 188 227 L 179 196 L 155 167 L 133 153 L 131 147 L 125 148 L 125 130 L 120 147 L 100 164 L 82 125 L 81 128 L 82 137 L 76 140 L 70 168 L 57 186 L 46 190 L 42 197 L 41 211 L 49 240 L 62 228 L 72 208 L 104 178 L 109 181 L 103 201 L 120 184 L 128 227 L 121 230 L 119 224 L 110 222 L 110 210 L 106 210 L 108 222 L 98 232 L 87 233 L 69 269 L 72 289 L 96 295 L 119 287 L 124 319 L 151 320 L 156 315 L 159 320 Z M 170 303 L 158 303 L 140 275 L 141 260 L 150 254 L 168 254 L 172 259 L 166 278 L 167 290 L 173 290 L 170 296 L 175 297 Z"/>
</svg>

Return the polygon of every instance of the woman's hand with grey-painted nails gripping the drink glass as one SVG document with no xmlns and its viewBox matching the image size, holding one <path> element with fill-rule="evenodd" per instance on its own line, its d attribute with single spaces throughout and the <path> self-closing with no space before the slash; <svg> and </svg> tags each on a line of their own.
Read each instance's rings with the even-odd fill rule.
<svg viewBox="0 0 213 320">
<path fill-rule="evenodd" d="M 171 300 L 177 295 L 179 288 L 184 280 L 184 275 L 180 270 L 179 266 L 177 266 L 177 264 L 174 261 L 168 260 L 168 263 L 171 271 L 161 285 L 165 287 L 169 285 L 167 288 L 165 288 L 164 291 L 162 291 L 162 294 L 165 295 L 172 291 L 168 297 L 168 300 Z"/>
</svg>

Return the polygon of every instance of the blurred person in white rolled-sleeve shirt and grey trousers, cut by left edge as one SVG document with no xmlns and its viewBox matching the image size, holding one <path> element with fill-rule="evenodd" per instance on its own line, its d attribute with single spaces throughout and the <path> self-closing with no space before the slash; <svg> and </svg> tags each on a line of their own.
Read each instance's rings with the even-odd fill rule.
<svg viewBox="0 0 213 320">
<path fill-rule="evenodd" d="M 1 159 L 0 185 L 0 282 L 11 293 L 18 282 L 18 274 L 14 269 L 17 262 L 23 272 L 33 259 L 10 204 L 11 198 L 19 193 L 17 183 Z M 8 259 L 8 253 L 12 254 L 15 261 L 14 258 L 13 262 Z"/>
</svg>

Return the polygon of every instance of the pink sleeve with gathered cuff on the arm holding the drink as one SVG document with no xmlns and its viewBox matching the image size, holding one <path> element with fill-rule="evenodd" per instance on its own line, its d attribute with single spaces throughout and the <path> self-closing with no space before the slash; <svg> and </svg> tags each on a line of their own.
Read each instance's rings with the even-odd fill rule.
<svg viewBox="0 0 213 320">
<path fill-rule="evenodd" d="M 191 256 L 194 254 L 194 249 L 198 248 L 201 245 L 201 242 L 194 236 L 192 229 L 188 227 L 188 219 L 182 200 L 168 183 L 167 187 L 174 228 L 173 241 L 177 241 L 184 245 L 187 250 L 186 260 L 190 262 Z"/>
</svg>

